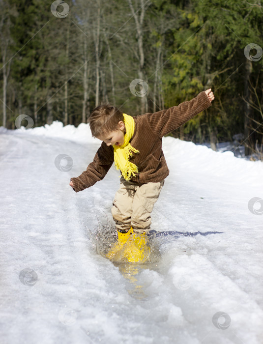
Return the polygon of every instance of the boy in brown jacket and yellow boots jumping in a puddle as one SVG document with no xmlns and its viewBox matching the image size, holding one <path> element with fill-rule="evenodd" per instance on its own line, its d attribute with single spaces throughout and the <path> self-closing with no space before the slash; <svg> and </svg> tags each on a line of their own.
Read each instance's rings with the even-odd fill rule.
<svg viewBox="0 0 263 344">
<path fill-rule="evenodd" d="M 193 118 L 214 100 L 211 88 L 168 110 L 132 117 L 110 105 L 98 106 L 89 117 L 93 137 L 102 141 L 94 160 L 79 177 L 71 178 L 75 192 L 102 180 L 113 162 L 120 170 L 120 187 L 112 216 L 118 241 L 107 258 L 144 262 L 149 256 L 146 233 L 153 206 L 169 170 L 162 151 L 162 137 Z"/>
</svg>

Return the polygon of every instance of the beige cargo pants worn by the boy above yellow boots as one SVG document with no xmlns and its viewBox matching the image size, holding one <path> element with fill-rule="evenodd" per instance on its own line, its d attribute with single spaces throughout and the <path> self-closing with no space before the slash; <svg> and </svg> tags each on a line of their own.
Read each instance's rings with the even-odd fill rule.
<svg viewBox="0 0 263 344">
<path fill-rule="evenodd" d="M 163 185 L 164 180 L 139 186 L 121 177 L 111 209 L 117 229 L 130 229 L 132 226 L 139 233 L 149 231 L 150 214 Z"/>
</svg>

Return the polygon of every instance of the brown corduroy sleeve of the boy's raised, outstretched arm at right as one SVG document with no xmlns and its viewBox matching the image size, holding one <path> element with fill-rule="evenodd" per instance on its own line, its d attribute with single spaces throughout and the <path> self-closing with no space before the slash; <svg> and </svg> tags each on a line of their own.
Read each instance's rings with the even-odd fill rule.
<svg viewBox="0 0 263 344">
<path fill-rule="evenodd" d="M 200 92 L 197 97 L 190 101 L 173 106 L 168 110 L 148 114 L 148 122 L 152 131 L 159 138 L 179 128 L 189 119 L 193 118 L 203 110 L 211 106 L 211 102 L 205 91 Z"/>
</svg>

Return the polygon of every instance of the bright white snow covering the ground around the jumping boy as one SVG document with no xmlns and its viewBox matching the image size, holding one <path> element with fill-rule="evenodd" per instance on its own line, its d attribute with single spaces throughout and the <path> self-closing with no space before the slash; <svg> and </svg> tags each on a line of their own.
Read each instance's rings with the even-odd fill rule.
<svg viewBox="0 0 263 344">
<path fill-rule="evenodd" d="M 94 249 L 119 172 L 68 185 L 100 143 L 87 124 L 0 128 L 0 343 L 263 343 L 263 163 L 163 138 L 151 228 L 177 235 L 125 265 Z"/>
</svg>

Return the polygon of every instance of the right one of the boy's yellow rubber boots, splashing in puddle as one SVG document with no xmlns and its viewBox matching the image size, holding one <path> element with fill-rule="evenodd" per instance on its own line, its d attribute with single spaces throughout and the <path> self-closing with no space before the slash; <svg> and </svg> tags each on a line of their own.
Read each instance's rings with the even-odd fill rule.
<svg viewBox="0 0 263 344">
<path fill-rule="evenodd" d="M 129 262 L 146 262 L 150 256 L 150 248 L 147 243 L 148 237 L 146 233 L 133 232 L 125 244 L 124 257 Z"/>
</svg>

